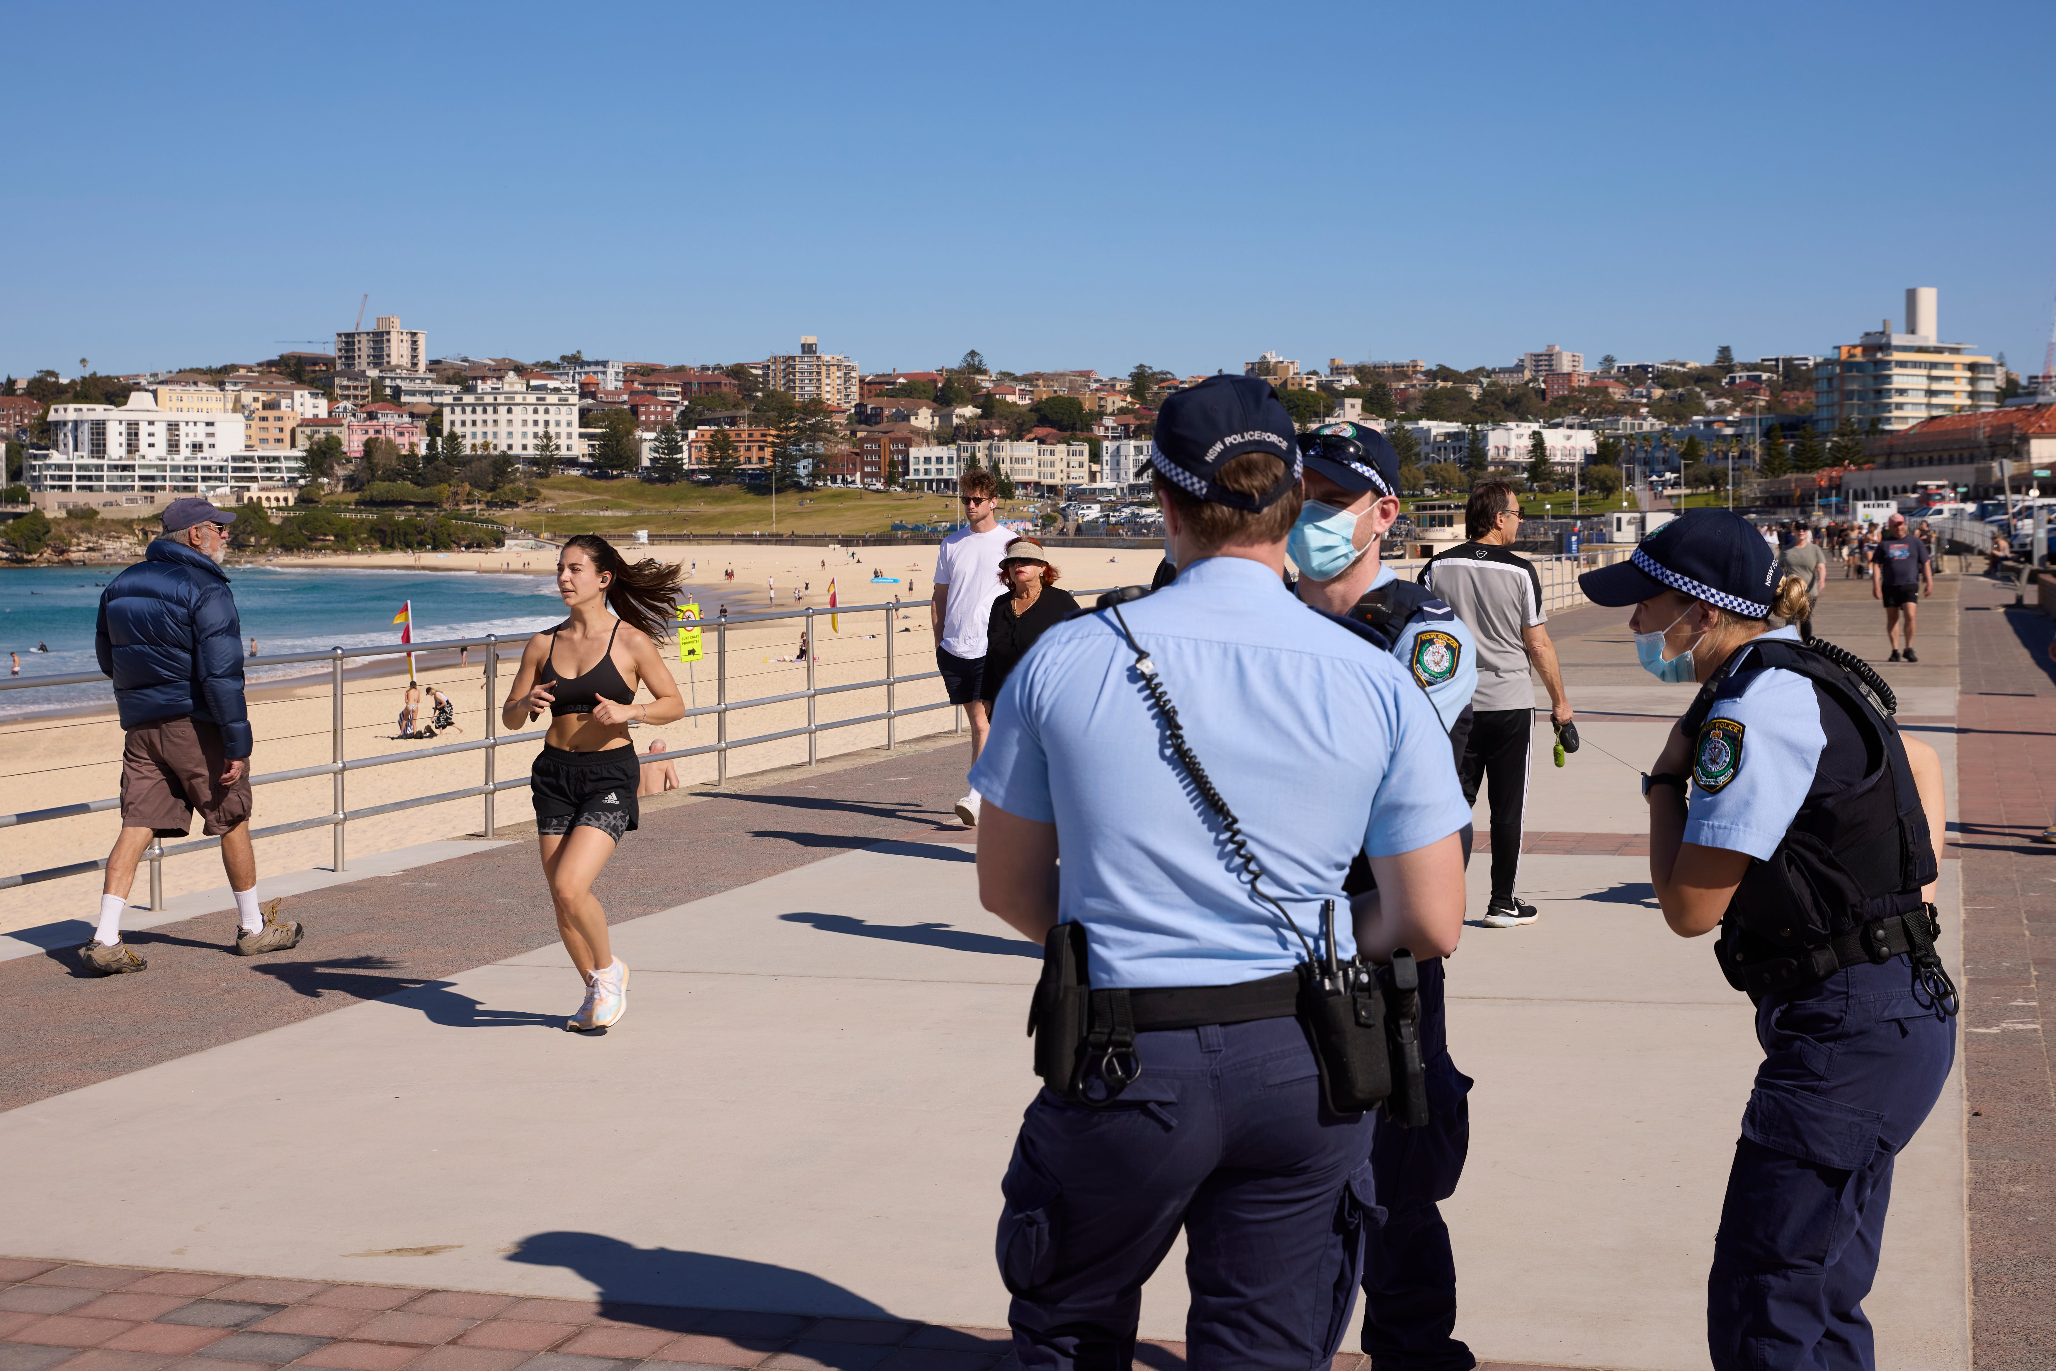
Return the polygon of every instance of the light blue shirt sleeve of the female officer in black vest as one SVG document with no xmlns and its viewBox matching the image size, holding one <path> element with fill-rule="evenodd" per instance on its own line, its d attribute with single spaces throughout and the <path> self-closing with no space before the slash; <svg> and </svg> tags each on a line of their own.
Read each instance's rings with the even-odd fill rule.
<svg viewBox="0 0 2056 1371">
<path fill-rule="evenodd" d="M 1799 629 L 1764 637 L 1799 641 Z M 1684 841 L 1768 861 L 1799 816 L 1826 746 L 1811 680 L 1778 668 L 1729 678 L 1692 740 Z"/>
</svg>

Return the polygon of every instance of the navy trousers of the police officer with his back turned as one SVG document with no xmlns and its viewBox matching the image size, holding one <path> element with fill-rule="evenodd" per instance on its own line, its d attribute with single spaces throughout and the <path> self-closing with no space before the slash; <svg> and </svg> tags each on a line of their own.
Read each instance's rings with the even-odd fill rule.
<svg viewBox="0 0 2056 1371">
<path fill-rule="evenodd" d="M 1320 1106 L 1297 1020 L 1137 1034 L 1104 1110 L 1036 1096 L 1001 1192 L 999 1276 L 1028 1371 L 1131 1365 L 1143 1281 L 1186 1235 L 1192 1371 L 1326 1369 L 1349 1324 L 1375 1114 Z"/>
</svg>

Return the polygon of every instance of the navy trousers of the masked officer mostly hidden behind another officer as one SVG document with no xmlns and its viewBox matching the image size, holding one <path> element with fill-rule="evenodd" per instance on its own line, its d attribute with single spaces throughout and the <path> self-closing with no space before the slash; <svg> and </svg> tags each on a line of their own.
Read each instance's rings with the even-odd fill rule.
<svg viewBox="0 0 2056 1371">
<path fill-rule="evenodd" d="M 1382 972 L 1386 995 L 1392 974 Z M 1456 1194 L 1470 1153 L 1470 1077 L 1449 1061 L 1443 962 L 1421 962 L 1421 1057 L 1431 1118 L 1378 1126 L 1371 1176 L 1384 1227 L 1363 1242 L 1363 1350 L 1373 1371 L 1468 1371 L 1478 1359 L 1456 1332 L 1456 1258 L 1439 1202 Z"/>
</svg>

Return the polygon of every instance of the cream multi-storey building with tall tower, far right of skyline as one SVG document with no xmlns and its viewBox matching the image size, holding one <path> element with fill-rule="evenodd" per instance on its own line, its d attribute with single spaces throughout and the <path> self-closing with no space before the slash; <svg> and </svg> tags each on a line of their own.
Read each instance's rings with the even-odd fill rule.
<svg viewBox="0 0 2056 1371">
<path fill-rule="evenodd" d="M 1998 364 L 1972 343 L 1941 341 L 1935 288 L 1916 286 L 1906 292 L 1906 333 L 1885 319 L 1813 368 L 1813 428 L 1830 434 L 1852 419 L 1896 434 L 1935 415 L 1998 409 Z"/>
</svg>

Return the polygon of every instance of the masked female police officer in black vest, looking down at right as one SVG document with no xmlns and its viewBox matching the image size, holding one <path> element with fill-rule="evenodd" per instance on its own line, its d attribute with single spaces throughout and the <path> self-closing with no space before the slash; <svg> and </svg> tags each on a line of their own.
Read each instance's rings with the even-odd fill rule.
<svg viewBox="0 0 2056 1371">
<path fill-rule="evenodd" d="M 1635 606 L 1643 668 L 1700 684 L 1643 779 L 1649 872 L 1674 933 L 1721 929 L 1764 1048 L 1706 1281 L 1713 1365 L 1871 1367 L 1892 1161 L 1955 1057 L 1929 902 L 1941 763 L 1857 658 L 1764 631 L 1805 586 L 1735 514 L 1692 510 L 1579 584 Z"/>
</svg>

